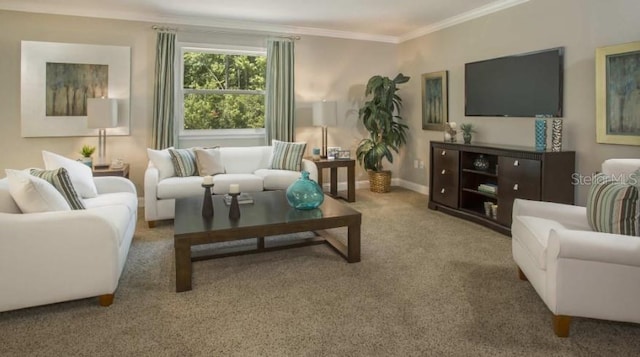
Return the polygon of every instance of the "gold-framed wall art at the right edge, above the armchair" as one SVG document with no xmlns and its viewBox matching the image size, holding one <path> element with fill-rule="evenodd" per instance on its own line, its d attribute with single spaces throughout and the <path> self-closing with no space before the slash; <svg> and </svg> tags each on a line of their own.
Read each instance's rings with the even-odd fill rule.
<svg viewBox="0 0 640 357">
<path fill-rule="evenodd" d="M 596 49 L 596 141 L 640 145 L 640 42 Z"/>
</svg>

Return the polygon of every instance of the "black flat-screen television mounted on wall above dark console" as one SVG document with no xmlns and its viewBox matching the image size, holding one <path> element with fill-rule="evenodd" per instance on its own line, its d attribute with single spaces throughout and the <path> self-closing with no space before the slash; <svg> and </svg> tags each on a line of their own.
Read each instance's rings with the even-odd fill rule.
<svg viewBox="0 0 640 357">
<path fill-rule="evenodd" d="M 562 117 L 564 48 L 465 64 L 465 115 Z"/>
</svg>

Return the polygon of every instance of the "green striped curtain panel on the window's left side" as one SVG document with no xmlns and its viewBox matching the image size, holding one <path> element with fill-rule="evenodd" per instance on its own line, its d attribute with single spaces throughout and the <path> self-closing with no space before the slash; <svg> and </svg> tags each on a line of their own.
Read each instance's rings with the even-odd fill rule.
<svg viewBox="0 0 640 357">
<path fill-rule="evenodd" d="M 156 41 L 156 73 L 153 90 L 153 147 L 173 146 L 176 34 L 159 31 Z"/>
</svg>

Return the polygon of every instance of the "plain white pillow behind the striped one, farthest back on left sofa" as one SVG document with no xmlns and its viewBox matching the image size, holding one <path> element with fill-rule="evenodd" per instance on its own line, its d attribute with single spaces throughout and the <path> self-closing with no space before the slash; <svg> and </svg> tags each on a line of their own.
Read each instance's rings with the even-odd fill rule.
<svg viewBox="0 0 640 357">
<path fill-rule="evenodd" d="M 98 196 L 98 189 L 93 182 L 93 172 L 87 165 L 49 151 L 42 151 L 42 159 L 44 160 L 44 168 L 47 170 L 55 170 L 60 167 L 67 169 L 71 183 L 80 197 L 93 198 Z"/>
</svg>

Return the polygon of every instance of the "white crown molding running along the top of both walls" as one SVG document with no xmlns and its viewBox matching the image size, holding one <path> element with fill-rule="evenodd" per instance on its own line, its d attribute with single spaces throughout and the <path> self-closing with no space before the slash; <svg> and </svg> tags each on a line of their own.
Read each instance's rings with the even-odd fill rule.
<svg viewBox="0 0 640 357">
<path fill-rule="evenodd" d="M 67 16 L 82 16 L 93 17 L 101 19 L 116 19 L 116 20 L 128 20 L 128 21 L 140 21 L 151 23 L 162 23 L 169 25 L 183 25 L 183 26 L 202 26 L 212 29 L 218 29 L 219 31 L 233 31 L 242 33 L 260 33 L 260 34 L 287 34 L 287 35 L 308 35 L 308 36 L 320 36 L 320 37 L 332 37 L 342 38 L 349 40 L 360 41 L 373 41 L 399 44 L 405 41 L 412 40 L 417 37 L 428 35 L 430 33 L 445 29 L 447 27 L 455 26 L 466 21 L 476 19 L 494 12 L 498 12 L 512 6 L 526 3 L 529 0 L 498 0 L 488 5 L 479 7 L 477 9 L 465 12 L 460 15 L 448 18 L 438 23 L 425 26 L 416 31 L 408 32 L 401 36 L 386 36 L 376 35 L 370 33 L 361 32 L 349 32 L 329 30 L 313 27 L 302 26 L 288 26 L 288 25 L 273 25 L 259 22 L 250 21 L 237 21 L 229 19 L 220 19 L 212 17 L 188 17 L 188 16 L 166 16 L 156 14 L 142 14 L 135 12 L 124 11 L 95 11 L 89 9 L 81 9 L 71 6 L 62 6 L 59 4 L 51 4 L 48 2 L 32 3 L 27 1 L 16 2 L 15 0 L 0 0 L 0 10 L 9 11 L 23 11 L 40 14 L 51 15 L 67 15 Z"/>
</svg>

